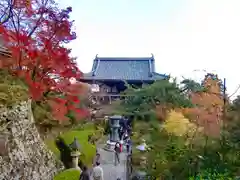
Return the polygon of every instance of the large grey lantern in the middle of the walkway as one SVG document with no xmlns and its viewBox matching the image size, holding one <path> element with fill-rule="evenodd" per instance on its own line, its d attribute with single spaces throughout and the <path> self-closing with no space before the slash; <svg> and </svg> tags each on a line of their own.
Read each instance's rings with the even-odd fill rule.
<svg viewBox="0 0 240 180">
<path fill-rule="evenodd" d="M 110 137 L 107 141 L 107 147 L 108 150 L 113 150 L 116 142 L 119 142 L 119 133 L 118 130 L 120 128 L 120 120 L 122 120 L 123 117 L 119 115 L 111 116 L 109 117 L 109 126 L 110 126 Z"/>
</svg>

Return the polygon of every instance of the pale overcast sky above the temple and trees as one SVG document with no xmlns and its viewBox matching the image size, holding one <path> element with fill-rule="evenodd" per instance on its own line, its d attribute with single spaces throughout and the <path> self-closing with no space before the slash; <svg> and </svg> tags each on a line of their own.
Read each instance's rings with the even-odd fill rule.
<svg viewBox="0 0 240 180">
<path fill-rule="evenodd" d="M 83 72 L 95 55 L 151 56 L 156 70 L 199 79 L 205 69 L 240 84 L 240 0 L 59 0 L 72 6 Z"/>
</svg>

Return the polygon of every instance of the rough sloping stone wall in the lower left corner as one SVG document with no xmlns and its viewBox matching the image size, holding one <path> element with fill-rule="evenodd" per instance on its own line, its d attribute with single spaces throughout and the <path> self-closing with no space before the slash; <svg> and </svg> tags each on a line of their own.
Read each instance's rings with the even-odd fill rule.
<svg viewBox="0 0 240 180">
<path fill-rule="evenodd" d="M 31 102 L 0 108 L 0 180 L 52 180 L 63 169 L 40 138 Z"/>
</svg>

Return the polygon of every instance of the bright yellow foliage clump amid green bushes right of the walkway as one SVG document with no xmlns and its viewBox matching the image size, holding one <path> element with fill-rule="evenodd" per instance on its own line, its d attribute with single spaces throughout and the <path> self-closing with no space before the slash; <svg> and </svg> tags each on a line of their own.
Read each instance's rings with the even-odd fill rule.
<svg viewBox="0 0 240 180">
<path fill-rule="evenodd" d="M 163 128 L 176 136 L 193 135 L 198 127 L 185 118 L 181 112 L 170 111 L 164 122 Z"/>
</svg>

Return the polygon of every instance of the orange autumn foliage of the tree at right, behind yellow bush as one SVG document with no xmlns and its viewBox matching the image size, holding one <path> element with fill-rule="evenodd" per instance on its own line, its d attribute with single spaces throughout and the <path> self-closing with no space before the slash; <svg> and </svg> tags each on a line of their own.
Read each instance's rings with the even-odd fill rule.
<svg viewBox="0 0 240 180">
<path fill-rule="evenodd" d="M 223 96 L 218 79 L 206 76 L 203 82 L 206 92 L 192 93 L 190 98 L 195 108 L 185 108 L 182 110 L 189 119 L 195 120 L 203 126 L 206 134 L 218 135 L 221 127 L 221 117 L 223 110 Z"/>
</svg>

